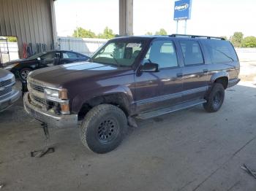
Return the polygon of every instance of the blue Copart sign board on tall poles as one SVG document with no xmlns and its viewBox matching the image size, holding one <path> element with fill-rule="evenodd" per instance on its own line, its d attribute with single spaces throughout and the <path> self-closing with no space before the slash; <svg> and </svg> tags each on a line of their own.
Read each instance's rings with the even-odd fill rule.
<svg viewBox="0 0 256 191">
<path fill-rule="evenodd" d="M 190 12 L 191 12 L 191 0 L 175 1 L 173 20 L 190 19 Z"/>
</svg>

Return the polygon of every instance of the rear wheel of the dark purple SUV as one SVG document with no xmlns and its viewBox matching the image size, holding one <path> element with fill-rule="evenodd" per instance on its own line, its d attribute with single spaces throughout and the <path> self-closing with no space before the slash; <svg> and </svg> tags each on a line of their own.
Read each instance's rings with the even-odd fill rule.
<svg viewBox="0 0 256 191">
<path fill-rule="evenodd" d="M 217 112 L 223 104 L 225 98 L 225 89 L 222 84 L 216 83 L 211 88 L 211 92 L 206 98 L 206 103 L 203 104 L 207 112 Z"/>
</svg>

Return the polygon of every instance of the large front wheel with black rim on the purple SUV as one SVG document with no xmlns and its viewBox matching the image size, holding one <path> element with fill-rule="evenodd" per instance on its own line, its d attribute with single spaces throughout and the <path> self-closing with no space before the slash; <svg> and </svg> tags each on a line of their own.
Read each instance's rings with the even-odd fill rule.
<svg viewBox="0 0 256 191">
<path fill-rule="evenodd" d="M 127 117 L 117 106 L 101 104 L 91 109 L 80 128 L 80 139 L 93 152 L 116 149 L 127 131 Z"/>
</svg>

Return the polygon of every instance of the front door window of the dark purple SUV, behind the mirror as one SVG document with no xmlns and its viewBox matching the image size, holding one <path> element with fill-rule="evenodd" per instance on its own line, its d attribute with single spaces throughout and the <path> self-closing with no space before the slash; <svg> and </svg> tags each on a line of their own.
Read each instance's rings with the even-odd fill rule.
<svg viewBox="0 0 256 191">
<path fill-rule="evenodd" d="M 167 40 L 156 40 L 152 42 L 143 63 L 157 63 L 159 69 L 177 67 L 178 60 L 173 42 Z"/>
</svg>

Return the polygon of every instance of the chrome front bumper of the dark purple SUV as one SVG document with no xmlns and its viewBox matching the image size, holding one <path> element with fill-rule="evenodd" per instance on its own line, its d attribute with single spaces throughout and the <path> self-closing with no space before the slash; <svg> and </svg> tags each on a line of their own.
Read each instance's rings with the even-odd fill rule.
<svg viewBox="0 0 256 191">
<path fill-rule="evenodd" d="M 53 114 L 50 112 L 42 111 L 37 106 L 30 103 L 29 93 L 23 97 L 23 104 L 25 111 L 40 122 L 47 123 L 50 127 L 54 128 L 69 128 L 77 127 L 78 114 Z"/>
</svg>

